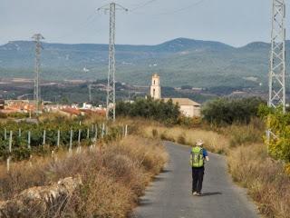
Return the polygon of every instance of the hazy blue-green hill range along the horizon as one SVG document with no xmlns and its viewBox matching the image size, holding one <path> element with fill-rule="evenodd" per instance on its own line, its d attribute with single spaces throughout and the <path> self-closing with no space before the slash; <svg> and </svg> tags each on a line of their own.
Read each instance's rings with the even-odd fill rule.
<svg viewBox="0 0 290 218">
<path fill-rule="evenodd" d="M 166 86 L 259 87 L 266 89 L 270 45 L 233 47 L 218 42 L 178 38 L 160 45 L 116 45 L 117 80 L 150 84 L 157 72 Z M 287 52 L 290 44 L 286 44 Z M 108 45 L 43 43 L 43 79 L 95 80 L 106 77 Z M 88 69 L 83 70 L 83 69 Z M 34 42 L 0 46 L 1 77 L 34 76 Z"/>
</svg>

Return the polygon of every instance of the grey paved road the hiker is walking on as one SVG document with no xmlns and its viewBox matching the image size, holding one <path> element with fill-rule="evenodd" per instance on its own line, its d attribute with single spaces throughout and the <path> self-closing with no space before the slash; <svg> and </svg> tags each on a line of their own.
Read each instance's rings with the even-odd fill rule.
<svg viewBox="0 0 290 218">
<path fill-rule="evenodd" d="M 246 191 L 231 182 L 224 157 L 209 154 L 204 196 L 191 195 L 189 147 L 165 143 L 169 164 L 140 199 L 134 218 L 252 218 L 258 217 Z"/>
</svg>

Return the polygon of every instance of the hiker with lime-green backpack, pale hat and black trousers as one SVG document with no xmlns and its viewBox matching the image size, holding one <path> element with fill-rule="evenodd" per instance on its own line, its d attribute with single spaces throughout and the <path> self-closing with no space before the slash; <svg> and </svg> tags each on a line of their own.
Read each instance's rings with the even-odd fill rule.
<svg viewBox="0 0 290 218">
<path fill-rule="evenodd" d="M 192 167 L 192 194 L 201 196 L 205 160 L 209 161 L 208 152 L 203 148 L 203 141 L 198 140 L 190 152 L 190 166 Z"/>
</svg>

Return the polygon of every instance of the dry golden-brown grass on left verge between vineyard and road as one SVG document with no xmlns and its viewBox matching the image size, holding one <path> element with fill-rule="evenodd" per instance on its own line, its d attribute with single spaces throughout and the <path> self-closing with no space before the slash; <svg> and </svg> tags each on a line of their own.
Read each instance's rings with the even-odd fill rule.
<svg viewBox="0 0 290 218">
<path fill-rule="evenodd" d="M 126 217 L 166 161 L 160 141 L 130 136 L 102 146 L 102 150 L 70 157 L 59 154 L 58 161 L 36 159 L 32 166 L 14 163 L 11 173 L 0 174 L 0 198 L 10 199 L 31 186 L 79 174 L 82 189 L 73 195 L 63 216 Z"/>
</svg>

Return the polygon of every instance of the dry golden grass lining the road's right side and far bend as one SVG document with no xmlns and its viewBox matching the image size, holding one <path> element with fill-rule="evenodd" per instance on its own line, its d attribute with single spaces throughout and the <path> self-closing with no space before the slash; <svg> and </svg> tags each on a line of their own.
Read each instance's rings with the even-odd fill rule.
<svg viewBox="0 0 290 218">
<path fill-rule="evenodd" d="M 160 125 L 145 126 L 141 130 L 146 137 L 179 144 L 192 145 L 199 138 L 204 140 L 209 151 L 227 154 L 234 181 L 248 189 L 260 213 L 270 218 L 290 218 L 290 177 L 285 173 L 283 163 L 268 157 L 266 145 L 262 144 L 264 125 L 261 122 L 235 124 L 215 132 Z"/>
</svg>

